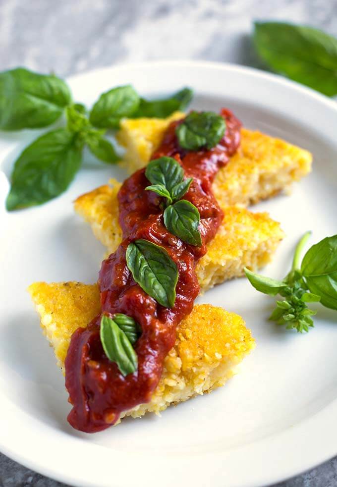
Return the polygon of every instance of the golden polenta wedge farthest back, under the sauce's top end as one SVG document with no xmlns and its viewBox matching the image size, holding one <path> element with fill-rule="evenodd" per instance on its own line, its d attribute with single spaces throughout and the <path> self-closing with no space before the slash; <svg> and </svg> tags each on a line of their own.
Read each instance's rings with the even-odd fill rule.
<svg viewBox="0 0 337 487">
<path fill-rule="evenodd" d="M 149 162 L 159 147 L 172 120 L 185 116 L 175 112 L 169 118 L 125 118 L 117 133 L 125 148 L 123 165 L 129 172 Z M 228 164 L 221 168 L 213 191 L 221 206 L 236 203 L 249 205 L 288 191 L 311 170 L 312 155 L 281 139 L 257 131 L 241 129 L 241 144 Z"/>
</svg>

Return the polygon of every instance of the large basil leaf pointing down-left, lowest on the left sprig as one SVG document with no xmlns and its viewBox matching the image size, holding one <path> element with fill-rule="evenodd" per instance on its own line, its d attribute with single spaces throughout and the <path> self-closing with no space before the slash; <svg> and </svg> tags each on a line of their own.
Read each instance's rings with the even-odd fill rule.
<svg viewBox="0 0 337 487">
<path fill-rule="evenodd" d="M 61 194 L 78 171 L 81 155 L 82 144 L 65 128 L 36 139 L 15 162 L 7 210 L 40 205 Z"/>
</svg>

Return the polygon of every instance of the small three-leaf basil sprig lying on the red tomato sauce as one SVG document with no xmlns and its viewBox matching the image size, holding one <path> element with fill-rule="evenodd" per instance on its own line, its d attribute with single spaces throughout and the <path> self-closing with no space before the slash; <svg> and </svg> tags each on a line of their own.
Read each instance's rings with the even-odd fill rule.
<svg viewBox="0 0 337 487">
<path fill-rule="evenodd" d="M 152 183 L 145 189 L 163 196 L 169 205 L 164 212 L 164 224 L 169 232 L 183 242 L 200 247 L 202 241 L 198 230 L 199 211 L 189 201 L 180 200 L 187 193 L 193 179 L 184 179 L 183 168 L 171 157 L 151 161 L 145 175 Z"/>
</svg>

